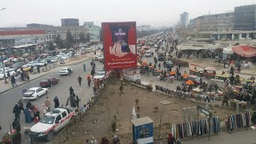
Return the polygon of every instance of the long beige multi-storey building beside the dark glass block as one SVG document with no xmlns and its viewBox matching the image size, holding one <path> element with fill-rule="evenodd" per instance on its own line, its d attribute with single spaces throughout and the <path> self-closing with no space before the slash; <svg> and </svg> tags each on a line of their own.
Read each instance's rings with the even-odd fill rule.
<svg viewBox="0 0 256 144">
<path fill-rule="evenodd" d="M 194 29 L 199 32 L 229 31 L 234 29 L 234 13 L 209 14 L 194 18 Z"/>
</svg>

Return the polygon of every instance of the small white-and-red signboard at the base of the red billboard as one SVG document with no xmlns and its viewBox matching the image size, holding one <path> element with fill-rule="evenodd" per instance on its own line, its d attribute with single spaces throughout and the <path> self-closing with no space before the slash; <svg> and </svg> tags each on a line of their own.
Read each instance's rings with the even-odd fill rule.
<svg viewBox="0 0 256 144">
<path fill-rule="evenodd" d="M 127 81 L 136 82 L 136 80 L 141 79 L 141 70 L 140 69 L 130 69 L 130 70 L 122 70 L 123 78 Z"/>
</svg>

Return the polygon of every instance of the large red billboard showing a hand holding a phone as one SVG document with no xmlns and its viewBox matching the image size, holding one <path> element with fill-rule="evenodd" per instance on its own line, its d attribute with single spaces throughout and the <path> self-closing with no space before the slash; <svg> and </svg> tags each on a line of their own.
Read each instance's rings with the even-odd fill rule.
<svg viewBox="0 0 256 144">
<path fill-rule="evenodd" d="M 136 22 L 102 22 L 105 70 L 137 67 Z"/>
</svg>

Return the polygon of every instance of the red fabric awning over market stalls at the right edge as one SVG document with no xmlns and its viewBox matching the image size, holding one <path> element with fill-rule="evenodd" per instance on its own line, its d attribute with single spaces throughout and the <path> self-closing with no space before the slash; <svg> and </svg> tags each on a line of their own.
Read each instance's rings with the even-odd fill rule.
<svg viewBox="0 0 256 144">
<path fill-rule="evenodd" d="M 235 46 L 232 48 L 235 54 L 250 58 L 256 56 L 256 47 L 254 46 Z"/>
</svg>

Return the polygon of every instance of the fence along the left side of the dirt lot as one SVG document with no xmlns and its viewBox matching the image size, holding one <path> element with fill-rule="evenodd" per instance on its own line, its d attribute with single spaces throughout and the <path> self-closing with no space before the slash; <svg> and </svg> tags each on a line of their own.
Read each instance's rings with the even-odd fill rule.
<svg viewBox="0 0 256 144">
<path fill-rule="evenodd" d="M 52 140 L 53 144 L 61 144 L 66 141 L 67 138 L 69 138 L 70 134 L 72 134 L 75 129 L 78 127 L 79 122 L 82 120 L 82 118 L 86 115 L 86 111 L 90 110 L 90 107 L 94 104 L 94 102 L 97 101 L 98 97 L 102 94 L 102 90 L 106 88 L 106 86 L 110 83 L 112 77 L 112 74 L 110 74 L 105 82 L 102 83 L 102 86 L 98 89 L 98 91 L 94 94 L 94 97 L 90 98 L 90 104 L 86 107 L 86 110 L 84 113 L 82 113 L 81 110 L 79 110 L 78 114 L 72 118 L 69 122 L 69 124 L 64 127 Z M 88 103 L 88 102 L 86 102 Z M 82 143 L 84 143 L 83 141 Z"/>
</svg>

